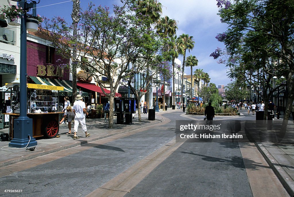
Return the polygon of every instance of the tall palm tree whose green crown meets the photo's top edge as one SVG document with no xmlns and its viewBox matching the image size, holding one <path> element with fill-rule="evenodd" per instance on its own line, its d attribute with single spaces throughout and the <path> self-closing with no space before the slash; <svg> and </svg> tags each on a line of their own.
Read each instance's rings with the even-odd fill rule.
<svg viewBox="0 0 294 197">
<path fill-rule="evenodd" d="M 140 16 L 140 13 L 142 15 L 148 15 L 151 19 L 151 23 L 155 23 L 160 18 L 160 15 L 162 13 L 162 5 L 157 0 L 139 0 L 137 1 L 138 9 L 136 10 L 138 16 Z M 149 25 L 151 26 L 151 24 Z M 146 76 L 149 76 L 149 70 L 147 69 Z M 146 90 L 149 91 L 150 87 L 149 85 L 146 86 Z M 149 98 L 150 94 L 146 94 L 146 106 L 147 110 L 149 109 Z"/>
</svg>

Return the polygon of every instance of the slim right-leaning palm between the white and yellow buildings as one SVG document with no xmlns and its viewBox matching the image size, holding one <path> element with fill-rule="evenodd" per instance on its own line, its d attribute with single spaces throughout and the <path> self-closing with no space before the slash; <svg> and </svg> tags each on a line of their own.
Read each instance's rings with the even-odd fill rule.
<svg viewBox="0 0 294 197">
<path fill-rule="evenodd" d="M 182 87 L 181 87 L 181 95 L 183 95 L 184 88 L 184 69 L 185 69 L 185 60 L 186 60 L 186 50 L 189 52 L 194 48 L 195 41 L 193 36 L 189 36 L 188 34 L 182 34 L 177 38 L 178 45 L 178 53 L 183 55 L 183 65 L 182 65 Z M 181 98 L 181 103 L 183 103 L 183 96 Z"/>
</svg>

